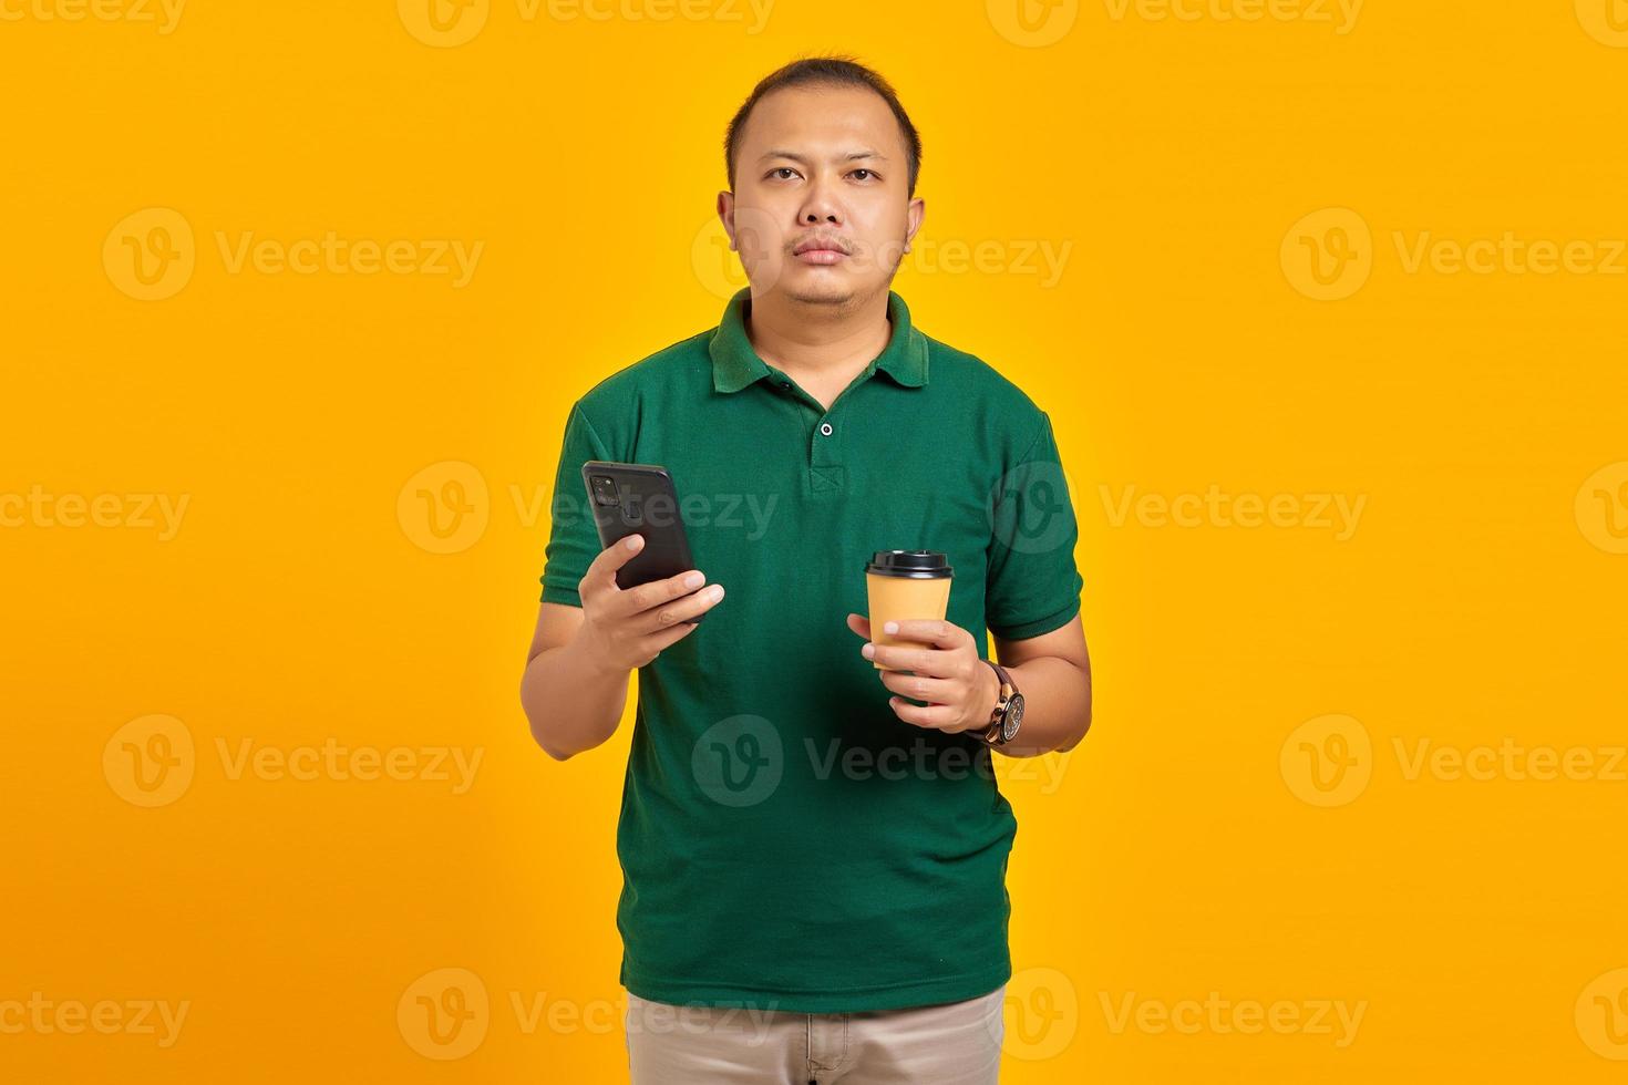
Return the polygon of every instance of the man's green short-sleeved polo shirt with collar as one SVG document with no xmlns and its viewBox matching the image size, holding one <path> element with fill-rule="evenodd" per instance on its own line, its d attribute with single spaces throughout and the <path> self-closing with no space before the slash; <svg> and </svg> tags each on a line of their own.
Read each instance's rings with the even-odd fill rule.
<svg viewBox="0 0 1628 1085">
<path fill-rule="evenodd" d="M 827 410 L 716 329 L 573 405 L 542 600 L 599 553 L 584 460 L 661 464 L 695 568 L 724 586 L 638 672 L 617 826 L 620 983 L 656 1002 L 799 1013 L 988 994 L 1011 976 L 1017 831 L 988 748 L 905 724 L 845 625 L 876 550 L 943 550 L 949 621 L 1039 636 L 1079 610 L 1076 524 L 1047 415 L 910 324 Z"/>
</svg>

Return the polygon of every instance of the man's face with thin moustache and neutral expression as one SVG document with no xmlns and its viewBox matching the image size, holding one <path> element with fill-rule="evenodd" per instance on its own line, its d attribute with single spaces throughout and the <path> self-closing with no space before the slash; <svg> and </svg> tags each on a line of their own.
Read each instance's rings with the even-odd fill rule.
<svg viewBox="0 0 1628 1085">
<path fill-rule="evenodd" d="M 908 184 L 904 132 L 879 94 L 788 88 L 747 117 L 718 215 L 754 296 L 850 309 L 887 290 L 921 228 Z"/>
</svg>

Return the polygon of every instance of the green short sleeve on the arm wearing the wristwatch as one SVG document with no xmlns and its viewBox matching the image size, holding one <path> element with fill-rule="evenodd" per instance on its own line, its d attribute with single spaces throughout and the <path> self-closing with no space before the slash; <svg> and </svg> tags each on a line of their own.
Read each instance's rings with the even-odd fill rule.
<svg viewBox="0 0 1628 1085">
<path fill-rule="evenodd" d="M 990 503 L 985 625 L 1006 641 L 1050 633 L 1079 613 L 1084 581 L 1074 566 L 1079 525 L 1074 521 L 1063 460 L 1052 420 L 1040 413 L 1040 433 L 1006 467 Z"/>
</svg>

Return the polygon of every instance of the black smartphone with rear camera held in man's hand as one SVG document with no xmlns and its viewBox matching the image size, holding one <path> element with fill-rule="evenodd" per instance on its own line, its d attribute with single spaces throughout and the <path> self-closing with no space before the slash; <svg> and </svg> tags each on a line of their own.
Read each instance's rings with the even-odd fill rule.
<svg viewBox="0 0 1628 1085">
<path fill-rule="evenodd" d="M 666 467 L 654 464 L 583 464 L 588 508 L 606 550 L 628 535 L 643 535 L 645 548 L 615 573 L 617 587 L 633 587 L 695 568 L 690 538 L 679 516 L 679 493 Z M 700 621 L 707 615 L 690 618 Z"/>
</svg>

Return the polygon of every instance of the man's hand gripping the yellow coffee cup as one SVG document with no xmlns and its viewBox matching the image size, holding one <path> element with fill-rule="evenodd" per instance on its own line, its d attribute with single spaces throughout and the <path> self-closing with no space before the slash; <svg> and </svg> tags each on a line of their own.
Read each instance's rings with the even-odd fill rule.
<svg viewBox="0 0 1628 1085">
<path fill-rule="evenodd" d="M 860 654 L 884 667 L 899 667 L 876 672 L 884 686 L 900 695 L 887 698 L 894 714 L 907 724 L 946 734 L 988 727 L 990 712 L 1000 699 L 1000 678 L 978 657 L 972 634 L 957 625 L 931 618 L 905 618 L 887 625 L 884 631 L 889 636 L 910 644 L 873 644 L 871 620 L 848 615 L 848 628 L 866 641 Z M 907 698 L 926 704 L 912 704 Z"/>
</svg>

